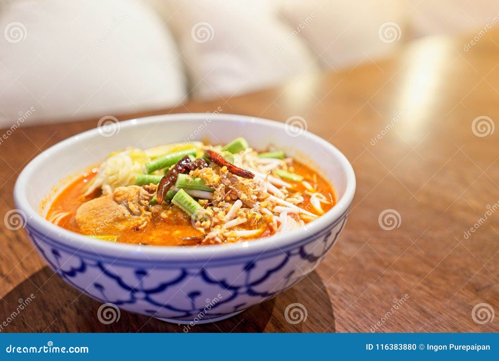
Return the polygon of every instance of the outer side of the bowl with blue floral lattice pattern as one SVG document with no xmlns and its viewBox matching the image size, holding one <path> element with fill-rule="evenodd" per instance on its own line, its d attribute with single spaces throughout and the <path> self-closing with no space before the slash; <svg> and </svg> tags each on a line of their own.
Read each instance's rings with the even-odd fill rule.
<svg viewBox="0 0 499 361">
<path fill-rule="evenodd" d="M 26 232 L 50 268 L 80 292 L 127 311 L 188 323 L 200 314 L 204 322 L 222 320 L 293 286 L 327 256 L 347 215 L 277 250 L 184 266 L 81 252 L 29 223 Z"/>
</svg>

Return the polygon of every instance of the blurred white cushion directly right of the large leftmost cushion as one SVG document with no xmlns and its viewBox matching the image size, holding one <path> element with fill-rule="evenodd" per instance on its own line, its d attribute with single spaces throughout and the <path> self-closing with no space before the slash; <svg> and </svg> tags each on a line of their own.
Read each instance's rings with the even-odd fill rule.
<svg viewBox="0 0 499 361">
<path fill-rule="evenodd" d="M 300 38 L 265 0 L 170 1 L 163 7 L 186 63 L 192 95 L 230 97 L 318 69 Z"/>
</svg>

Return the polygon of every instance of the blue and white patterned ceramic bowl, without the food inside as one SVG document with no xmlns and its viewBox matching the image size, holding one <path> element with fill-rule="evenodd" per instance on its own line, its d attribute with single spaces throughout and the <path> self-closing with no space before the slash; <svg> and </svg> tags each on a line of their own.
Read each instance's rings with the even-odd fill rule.
<svg viewBox="0 0 499 361">
<path fill-rule="evenodd" d="M 79 170 L 115 150 L 207 138 L 226 143 L 239 136 L 253 148 L 272 144 L 308 161 L 332 182 L 338 203 L 317 220 L 281 237 L 203 247 L 110 243 L 44 219 L 54 197 Z M 355 175 L 345 156 L 299 124 L 200 113 L 110 120 L 57 143 L 22 171 L 14 199 L 26 216 L 25 230 L 36 250 L 71 286 L 123 310 L 189 324 L 236 315 L 312 272 L 340 237 L 354 192 Z"/>
</svg>

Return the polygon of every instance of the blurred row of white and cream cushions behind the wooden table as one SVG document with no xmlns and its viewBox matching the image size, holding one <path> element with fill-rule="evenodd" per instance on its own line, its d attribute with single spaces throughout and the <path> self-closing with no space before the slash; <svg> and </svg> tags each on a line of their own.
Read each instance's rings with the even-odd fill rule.
<svg viewBox="0 0 499 361">
<path fill-rule="evenodd" d="M 497 0 L 1 0 L 0 128 L 228 99 L 497 22 Z"/>
</svg>

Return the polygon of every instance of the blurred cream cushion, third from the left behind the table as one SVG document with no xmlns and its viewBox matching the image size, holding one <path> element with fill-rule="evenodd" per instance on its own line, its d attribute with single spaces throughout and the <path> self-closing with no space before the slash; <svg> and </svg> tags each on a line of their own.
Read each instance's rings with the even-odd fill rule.
<svg viewBox="0 0 499 361">
<path fill-rule="evenodd" d="M 325 68 L 386 56 L 404 41 L 404 1 L 286 0 L 277 6 Z"/>
</svg>

